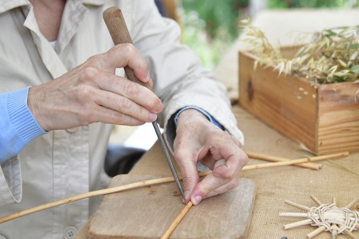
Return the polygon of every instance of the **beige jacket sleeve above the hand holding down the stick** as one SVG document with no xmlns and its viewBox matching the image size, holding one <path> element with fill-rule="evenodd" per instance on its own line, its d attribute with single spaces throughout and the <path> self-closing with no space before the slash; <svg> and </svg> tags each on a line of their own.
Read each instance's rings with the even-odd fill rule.
<svg viewBox="0 0 359 239">
<path fill-rule="evenodd" d="M 162 17 L 153 1 L 136 1 L 132 24 L 134 45 L 146 58 L 153 90 L 164 102 L 158 122 L 165 128 L 169 146 L 175 137 L 173 115 L 188 105 L 208 112 L 243 144 L 225 86 L 180 43 L 181 30 L 175 21 Z"/>
</svg>

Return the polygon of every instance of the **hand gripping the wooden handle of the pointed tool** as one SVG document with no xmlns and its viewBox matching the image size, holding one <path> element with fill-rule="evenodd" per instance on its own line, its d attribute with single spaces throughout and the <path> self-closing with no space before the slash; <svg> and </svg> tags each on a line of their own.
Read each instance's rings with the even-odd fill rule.
<svg viewBox="0 0 359 239">
<path fill-rule="evenodd" d="M 146 60 L 131 44 L 90 57 L 80 66 L 29 91 L 28 106 L 45 131 L 94 122 L 141 125 L 156 120 L 161 100 L 145 86 L 114 75 L 129 66 L 152 86 Z"/>
</svg>

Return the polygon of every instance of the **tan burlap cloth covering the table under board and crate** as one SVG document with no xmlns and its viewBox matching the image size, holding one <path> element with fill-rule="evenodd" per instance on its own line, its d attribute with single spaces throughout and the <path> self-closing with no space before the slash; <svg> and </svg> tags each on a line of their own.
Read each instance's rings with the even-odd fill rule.
<svg viewBox="0 0 359 239">
<path fill-rule="evenodd" d="M 290 141 L 274 129 L 257 120 L 239 106 L 233 107 L 233 112 L 245 134 L 245 150 L 266 155 L 287 157 L 291 159 L 308 156 L 298 150 Z M 343 159 L 334 159 L 336 163 L 359 172 L 359 153 L 351 154 Z M 251 159 L 250 164 L 265 163 L 262 160 Z M 347 170 L 334 167 L 328 162 L 321 161 L 321 170 L 311 170 L 296 166 L 255 169 L 240 173 L 240 177 L 252 179 L 256 185 L 256 200 L 249 228 L 248 238 L 305 238 L 305 235 L 315 228 L 310 225 L 283 230 L 282 225 L 303 220 L 301 218 L 281 218 L 280 212 L 303 212 L 284 204 L 288 199 L 293 202 L 315 206 L 309 196 L 315 195 L 323 203 L 331 202 L 336 197 L 338 206 L 345 206 L 354 198 L 359 197 L 359 176 Z M 162 150 L 156 143 L 130 172 L 133 175 L 171 175 Z M 86 238 L 88 225 L 76 236 Z M 354 232 L 359 236 L 359 232 Z M 330 233 L 323 232 L 316 238 L 331 238 Z M 341 235 L 338 238 L 346 238 Z"/>
</svg>

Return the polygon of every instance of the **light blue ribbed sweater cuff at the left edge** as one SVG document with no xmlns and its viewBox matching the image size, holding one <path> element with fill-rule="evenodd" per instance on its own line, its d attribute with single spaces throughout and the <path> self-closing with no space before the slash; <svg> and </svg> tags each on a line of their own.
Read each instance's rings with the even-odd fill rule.
<svg viewBox="0 0 359 239">
<path fill-rule="evenodd" d="M 33 139 L 47 133 L 27 106 L 29 89 L 0 94 L 0 163 L 20 153 Z"/>
</svg>

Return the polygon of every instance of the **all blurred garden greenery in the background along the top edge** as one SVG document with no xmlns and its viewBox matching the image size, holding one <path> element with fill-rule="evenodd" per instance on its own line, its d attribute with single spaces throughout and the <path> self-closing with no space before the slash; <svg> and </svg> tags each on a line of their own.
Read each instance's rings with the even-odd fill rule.
<svg viewBox="0 0 359 239">
<path fill-rule="evenodd" d="M 332 8 L 350 0 L 268 0 L 268 8 Z M 359 0 L 356 1 L 357 6 Z M 183 41 L 205 67 L 213 69 L 240 34 L 238 23 L 248 16 L 249 0 L 182 0 Z"/>
</svg>

